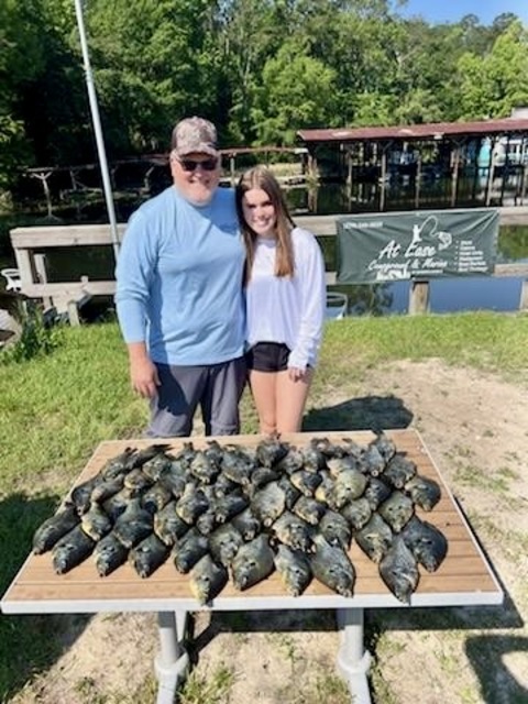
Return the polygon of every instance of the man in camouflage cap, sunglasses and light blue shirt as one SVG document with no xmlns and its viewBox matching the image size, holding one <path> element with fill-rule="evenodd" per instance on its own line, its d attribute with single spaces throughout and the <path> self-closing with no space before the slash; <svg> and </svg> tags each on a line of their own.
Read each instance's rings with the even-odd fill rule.
<svg viewBox="0 0 528 704">
<path fill-rule="evenodd" d="M 244 250 L 220 168 L 215 125 L 178 122 L 173 185 L 133 213 L 119 255 L 118 318 L 150 437 L 189 436 L 198 406 L 206 435 L 239 432 Z"/>
</svg>

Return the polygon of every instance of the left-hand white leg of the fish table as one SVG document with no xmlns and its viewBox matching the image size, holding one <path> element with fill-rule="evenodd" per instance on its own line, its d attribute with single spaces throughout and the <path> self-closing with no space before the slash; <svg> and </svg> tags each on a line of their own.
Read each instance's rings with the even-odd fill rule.
<svg viewBox="0 0 528 704">
<path fill-rule="evenodd" d="M 186 612 L 157 614 L 161 646 L 154 661 L 158 681 L 157 704 L 174 704 L 178 684 L 189 670 L 189 656 L 182 645 L 186 616 Z"/>
</svg>

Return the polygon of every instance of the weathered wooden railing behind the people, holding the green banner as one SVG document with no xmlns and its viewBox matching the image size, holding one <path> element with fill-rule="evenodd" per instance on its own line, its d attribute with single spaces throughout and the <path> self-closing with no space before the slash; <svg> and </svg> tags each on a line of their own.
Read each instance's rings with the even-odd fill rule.
<svg viewBox="0 0 528 704">
<path fill-rule="evenodd" d="M 528 208 L 498 208 L 501 224 L 528 224 Z M 296 222 L 318 237 L 336 237 L 337 216 L 300 216 Z M 118 239 L 122 240 L 125 226 L 118 226 Z M 11 243 L 20 272 L 21 292 L 29 298 L 40 298 L 45 306 L 54 306 L 58 312 L 67 312 L 73 323 L 78 321 L 78 307 L 92 296 L 112 296 L 116 280 L 79 280 L 50 283 L 42 250 L 51 248 L 112 245 L 109 224 L 31 227 L 11 230 Z M 528 309 L 528 264 L 497 264 L 495 276 L 525 278 L 519 300 L 520 309 Z M 327 272 L 327 284 L 336 284 L 336 272 Z M 428 282 L 411 283 L 409 312 L 428 309 Z"/>
</svg>

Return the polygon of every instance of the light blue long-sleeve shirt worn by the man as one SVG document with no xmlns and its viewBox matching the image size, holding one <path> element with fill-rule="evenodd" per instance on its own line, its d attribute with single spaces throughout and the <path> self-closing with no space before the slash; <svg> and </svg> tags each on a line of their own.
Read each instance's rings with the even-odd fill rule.
<svg viewBox="0 0 528 704">
<path fill-rule="evenodd" d="M 127 343 L 154 362 L 219 364 L 243 354 L 244 249 L 232 189 L 194 206 L 169 187 L 131 217 L 116 270 Z"/>
</svg>

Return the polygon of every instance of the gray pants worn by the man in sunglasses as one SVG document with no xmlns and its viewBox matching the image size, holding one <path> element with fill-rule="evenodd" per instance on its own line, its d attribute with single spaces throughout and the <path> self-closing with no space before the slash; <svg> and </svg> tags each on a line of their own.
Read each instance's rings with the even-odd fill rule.
<svg viewBox="0 0 528 704">
<path fill-rule="evenodd" d="M 239 402 L 246 372 L 244 358 L 207 366 L 156 364 L 161 385 L 151 402 L 150 438 L 188 437 L 198 406 L 206 436 L 240 431 Z"/>
</svg>

